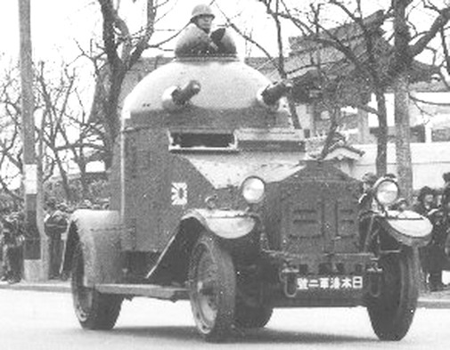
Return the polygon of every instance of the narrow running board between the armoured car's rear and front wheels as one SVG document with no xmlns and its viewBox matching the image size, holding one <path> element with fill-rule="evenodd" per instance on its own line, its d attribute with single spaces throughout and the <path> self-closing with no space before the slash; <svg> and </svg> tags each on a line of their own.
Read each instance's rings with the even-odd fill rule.
<svg viewBox="0 0 450 350">
<path fill-rule="evenodd" d="M 164 300 L 187 300 L 188 290 L 181 287 L 165 287 L 157 284 L 96 284 L 95 289 L 104 294 L 120 294 L 131 297 L 154 297 Z"/>
</svg>

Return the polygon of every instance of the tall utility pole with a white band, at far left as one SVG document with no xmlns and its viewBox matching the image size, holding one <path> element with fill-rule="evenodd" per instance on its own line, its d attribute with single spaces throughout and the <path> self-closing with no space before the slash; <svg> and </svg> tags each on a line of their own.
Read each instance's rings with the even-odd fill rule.
<svg viewBox="0 0 450 350">
<path fill-rule="evenodd" d="M 37 162 L 33 96 L 33 61 L 31 50 L 30 0 L 19 0 L 20 84 L 23 143 L 23 188 L 25 212 L 25 245 L 23 250 L 25 279 L 40 280 L 41 244 L 37 229 Z"/>
</svg>

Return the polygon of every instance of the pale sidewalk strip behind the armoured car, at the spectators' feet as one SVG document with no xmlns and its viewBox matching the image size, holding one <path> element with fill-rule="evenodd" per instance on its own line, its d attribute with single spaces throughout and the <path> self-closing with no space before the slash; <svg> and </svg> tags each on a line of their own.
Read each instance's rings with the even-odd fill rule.
<svg viewBox="0 0 450 350">
<path fill-rule="evenodd" d="M 70 281 L 41 281 L 30 282 L 20 281 L 15 284 L 8 284 L 0 281 L 0 289 L 12 290 L 34 290 L 43 292 L 70 293 Z M 418 307 L 426 307 L 433 309 L 450 308 L 450 289 L 439 292 L 423 292 L 419 297 Z"/>
</svg>

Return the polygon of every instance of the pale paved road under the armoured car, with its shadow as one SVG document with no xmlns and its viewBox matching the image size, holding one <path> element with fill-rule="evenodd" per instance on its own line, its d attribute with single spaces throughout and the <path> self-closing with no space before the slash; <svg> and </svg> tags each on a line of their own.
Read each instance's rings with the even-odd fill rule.
<svg viewBox="0 0 450 350">
<path fill-rule="evenodd" d="M 137 298 L 126 302 L 116 328 L 81 330 L 67 293 L 0 290 L 0 348 L 53 349 L 448 349 L 450 311 L 419 309 L 407 337 L 382 343 L 363 308 L 276 310 L 265 330 L 210 345 L 197 335 L 190 305 Z"/>
</svg>

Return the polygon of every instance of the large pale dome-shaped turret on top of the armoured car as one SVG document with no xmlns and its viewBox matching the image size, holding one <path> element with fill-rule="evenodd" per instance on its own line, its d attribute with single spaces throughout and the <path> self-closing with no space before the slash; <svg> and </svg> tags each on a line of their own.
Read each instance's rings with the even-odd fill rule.
<svg viewBox="0 0 450 350">
<path fill-rule="evenodd" d="M 261 98 L 269 85 L 235 57 L 176 58 L 136 85 L 123 118 L 151 124 L 158 119 L 166 126 L 289 126 L 284 99 L 266 103 Z M 186 101 L 176 100 L 180 92 Z"/>
</svg>

